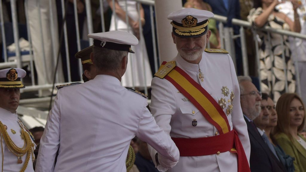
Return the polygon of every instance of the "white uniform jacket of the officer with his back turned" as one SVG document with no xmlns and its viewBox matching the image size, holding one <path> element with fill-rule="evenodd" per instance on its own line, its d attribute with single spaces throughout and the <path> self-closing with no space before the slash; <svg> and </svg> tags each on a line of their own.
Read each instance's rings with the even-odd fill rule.
<svg viewBox="0 0 306 172">
<path fill-rule="evenodd" d="M 126 172 L 135 135 L 167 159 L 178 161 L 177 147 L 146 106 L 147 99 L 109 75 L 59 89 L 40 140 L 35 171 Z"/>
</svg>

